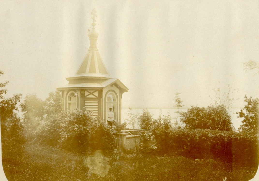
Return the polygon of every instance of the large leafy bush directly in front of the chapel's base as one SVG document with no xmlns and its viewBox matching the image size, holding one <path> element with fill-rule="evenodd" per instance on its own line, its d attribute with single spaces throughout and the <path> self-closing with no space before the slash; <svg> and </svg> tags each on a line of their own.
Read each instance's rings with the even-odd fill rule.
<svg viewBox="0 0 259 181">
<path fill-rule="evenodd" d="M 37 135 L 42 142 L 70 152 L 89 154 L 95 150 L 111 153 L 115 146 L 112 130 L 89 110 L 60 112 L 42 120 Z"/>
</svg>

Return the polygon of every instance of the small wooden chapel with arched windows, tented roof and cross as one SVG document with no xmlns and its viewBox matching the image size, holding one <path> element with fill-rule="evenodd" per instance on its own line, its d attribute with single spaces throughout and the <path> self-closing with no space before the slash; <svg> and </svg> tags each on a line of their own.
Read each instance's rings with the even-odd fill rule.
<svg viewBox="0 0 259 181">
<path fill-rule="evenodd" d="M 96 10 L 92 12 L 92 29 L 89 31 L 90 46 L 81 65 L 68 84 L 57 88 L 62 93 L 62 105 L 66 111 L 86 108 L 107 121 L 111 108 L 116 122 L 121 123 L 121 98 L 128 88 L 117 78 L 111 78 L 98 52 L 95 31 Z"/>
</svg>

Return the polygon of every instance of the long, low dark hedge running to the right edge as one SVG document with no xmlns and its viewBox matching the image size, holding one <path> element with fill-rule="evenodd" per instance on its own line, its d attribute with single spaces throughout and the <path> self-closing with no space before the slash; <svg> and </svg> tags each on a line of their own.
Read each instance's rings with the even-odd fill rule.
<svg viewBox="0 0 259 181">
<path fill-rule="evenodd" d="M 214 159 L 238 165 L 258 165 L 258 135 L 251 132 L 171 129 L 152 132 L 159 153 L 192 159 Z M 165 139 L 167 138 L 167 139 Z M 147 143 L 146 143 L 147 145 Z"/>
</svg>

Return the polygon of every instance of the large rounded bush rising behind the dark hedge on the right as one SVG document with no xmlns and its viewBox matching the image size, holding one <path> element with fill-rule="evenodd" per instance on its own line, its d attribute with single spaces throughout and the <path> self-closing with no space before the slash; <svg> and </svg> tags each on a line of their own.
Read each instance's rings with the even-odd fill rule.
<svg viewBox="0 0 259 181">
<path fill-rule="evenodd" d="M 181 122 L 187 129 L 233 130 L 231 116 L 224 105 L 207 108 L 192 106 L 186 112 L 181 112 L 181 116 Z"/>
</svg>

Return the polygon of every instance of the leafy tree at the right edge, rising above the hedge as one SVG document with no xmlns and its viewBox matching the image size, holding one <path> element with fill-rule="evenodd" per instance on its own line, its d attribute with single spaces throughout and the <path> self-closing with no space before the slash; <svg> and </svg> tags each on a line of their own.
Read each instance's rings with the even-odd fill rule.
<svg viewBox="0 0 259 181">
<path fill-rule="evenodd" d="M 247 98 L 247 96 L 244 96 L 244 102 L 246 102 L 246 105 L 243 109 L 241 109 L 239 112 L 236 112 L 238 114 L 239 118 L 244 118 L 242 120 L 242 125 L 239 127 L 239 130 L 242 131 L 255 131 L 258 132 L 258 105 L 259 105 L 259 99 L 252 97 Z"/>
</svg>

